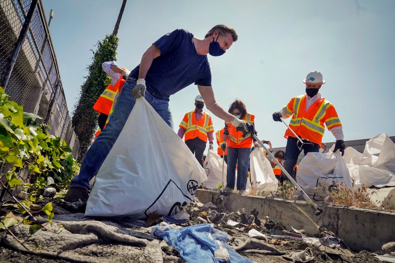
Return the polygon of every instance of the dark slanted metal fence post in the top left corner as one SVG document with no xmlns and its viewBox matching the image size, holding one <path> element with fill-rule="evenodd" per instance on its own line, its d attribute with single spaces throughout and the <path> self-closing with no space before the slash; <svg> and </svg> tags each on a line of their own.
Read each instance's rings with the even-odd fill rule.
<svg viewBox="0 0 395 263">
<path fill-rule="evenodd" d="M 12 69 L 14 68 L 15 61 L 16 61 L 16 59 L 18 57 L 19 51 L 21 50 L 22 43 L 23 43 L 23 41 L 25 39 L 26 32 L 27 32 L 27 30 L 29 28 L 29 25 L 30 25 L 30 22 L 31 22 L 31 18 L 33 17 L 34 9 L 37 6 L 37 3 L 38 3 L 38 0 L 32 0 L 30 8 L 29 8 L 29 12 L 26 15 L 25 22 L 23 23 L 21 32 L 19 33 L 17 44 L 15 46 L 14 52 L 12 53 L 10 66 L 9 66 L 9 68 L 7 70 L 7 73 L 6 73 L 6 75 L 4 77 L 4 80 L 3 80 L 3 83 L 2 83 L 2 87 L 4 88 L 4 90 L 6 90 L 6 88 L 7 88 L 8 81 L 9 81 L 9 79 L 11 77 Z"/>
</svg>

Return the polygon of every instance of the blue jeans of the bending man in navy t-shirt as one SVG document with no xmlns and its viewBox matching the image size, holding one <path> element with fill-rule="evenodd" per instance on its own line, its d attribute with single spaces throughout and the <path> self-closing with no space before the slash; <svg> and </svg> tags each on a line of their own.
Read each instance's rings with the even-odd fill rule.
<svg viewBox="0 0 395 263">
<path fill-rule="evenodd" d="M 97 136 L 96 140 L 92 143 L 81 165 L 80 174 L 74 176 L 74 178 L 71 179 L 70 186 L 84 187 L 85 189 L 89 190 L 89 181 L 99 171 L 100 166 L 104 162 L 104 159 L 106 159 L 112 148 L 112 145 L 114 145 L 116 139 L 120 135 L 126 120 L 128 119 L 134 104 L 136 103 L 136 99 L 132 95 L 132 89 L 135 86 L 136 80 L 133 78 L 128 78 L 121 90 L 120 96 L 117 99 L 114 112 L 111 115 L 106 128 L 101 131 L 99 136 Z M 145 91 L 145 99 L 162 117 L 162 119 L 171 128 L 173 128 L 173 120 L 169 108 L 169 101 L 167 99 L 156 98 L 149 94 L 148 91 Z M 138 138 L 138 136 L 136 138 Z"/>
</svg>

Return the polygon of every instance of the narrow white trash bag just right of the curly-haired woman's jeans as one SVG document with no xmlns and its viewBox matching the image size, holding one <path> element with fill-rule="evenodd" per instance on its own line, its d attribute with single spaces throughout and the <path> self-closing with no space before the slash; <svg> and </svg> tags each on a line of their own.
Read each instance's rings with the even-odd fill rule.
<svg viewBox="0 0 395 263">
<path fill-rule="evenodd" d="M 255 148 L 250 154 L 250 175 L 252 186 L 262 192 L 263 196 L 277 191 L 278 181 L 261 148 Z"/>
</svg>

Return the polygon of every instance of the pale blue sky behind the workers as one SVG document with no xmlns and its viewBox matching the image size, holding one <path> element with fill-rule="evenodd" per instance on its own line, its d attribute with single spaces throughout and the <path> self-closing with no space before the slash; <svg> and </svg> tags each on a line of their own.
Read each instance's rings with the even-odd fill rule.
<svg viewBox="0 0 395 263">
<path fill-rule="evenodd" d="M 87 76 L 97 41 L 113 30 L 122 0 L 43 0 L 70 112 Z M 184 28 L 199 39 L 216 24 L 236 29 L 239 40 L 211 57 L 216 100 L 227 110 L 236 98 L 255 115 L 260 139 L 286 144 L 285 125 L 271 115 L 304 93 L 311 70 L 327 81 L 320 90 L 343 124 L 345 140 L 395 135 L 395 1 L 132 1 L 126 4 L 117 63 L 133 69 L 163 34 Z M 191 85 L 170 98 L 175 130 L 194 108 Z M 214 129 L 223 121 L 213 117 Z M 288 119 L 289 121 L 289 119 Z M 323 141 L 334 137 L 326 130 Z M 215 144 L 216 145 L 216 144 Z"/>
</svg>

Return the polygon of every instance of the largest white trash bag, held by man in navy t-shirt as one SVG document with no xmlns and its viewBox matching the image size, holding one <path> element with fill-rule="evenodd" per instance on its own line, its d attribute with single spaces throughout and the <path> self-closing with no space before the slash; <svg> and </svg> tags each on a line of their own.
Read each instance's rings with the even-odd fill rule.
<svg viewBox="0 0 395 263">
<path fill-rule="evenodd" d="M 206 179 L 186 144 L 139 98 L 96 175 L 85 215 L 173 216 Z"/>
</svg>

